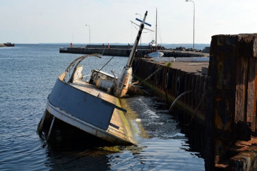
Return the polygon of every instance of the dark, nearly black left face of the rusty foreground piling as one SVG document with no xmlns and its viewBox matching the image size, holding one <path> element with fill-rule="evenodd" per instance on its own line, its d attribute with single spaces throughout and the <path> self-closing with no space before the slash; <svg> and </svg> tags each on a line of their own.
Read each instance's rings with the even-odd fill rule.
<svg viewBox="0 0 257 171">
<path fill-rule="evenodd" d="M 213 78 L 215 129 L 231 131 L 234 122 L 235 38 L 212 36 L 208 76 Z"/>
</svg>

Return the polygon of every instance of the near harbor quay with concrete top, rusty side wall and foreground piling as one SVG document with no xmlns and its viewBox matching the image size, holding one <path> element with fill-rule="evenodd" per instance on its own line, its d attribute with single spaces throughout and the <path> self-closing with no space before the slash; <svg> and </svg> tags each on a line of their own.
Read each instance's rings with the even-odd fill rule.
<svg viewBox="0 0 257 171">
<path fill-rule="evenodd" d="M 206 170 L 257 170 L 257 34 L 212 36 L 208 58 L 138 57 L 133 77 L 191 132 Z"/>
</svg>

